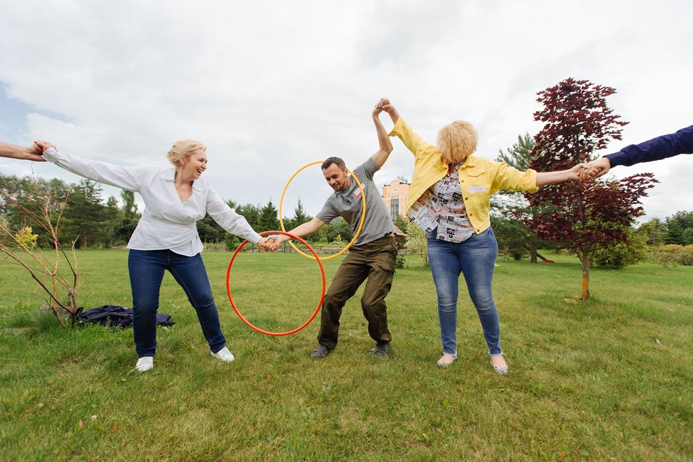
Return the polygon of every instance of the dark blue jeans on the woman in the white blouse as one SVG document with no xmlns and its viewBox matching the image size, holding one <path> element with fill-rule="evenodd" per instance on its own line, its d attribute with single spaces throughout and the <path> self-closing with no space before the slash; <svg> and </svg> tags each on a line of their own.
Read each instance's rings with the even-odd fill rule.
<svg viewBox="0 0 693 462">
<path fill-rule="evenodd" d="M 128 269 L 132 287 L 132 330 L 138 357 L 154 356 L 157 350 L 159 289 L 165 269 L 183 287 L 188 301 L 198 312 L 209 348 L 213 353 L 224 348 L 226 339 L 221 333 L 219 314 L 200 254 L 186 257 L 170 250 L 130 249 Z"/>
</svg>

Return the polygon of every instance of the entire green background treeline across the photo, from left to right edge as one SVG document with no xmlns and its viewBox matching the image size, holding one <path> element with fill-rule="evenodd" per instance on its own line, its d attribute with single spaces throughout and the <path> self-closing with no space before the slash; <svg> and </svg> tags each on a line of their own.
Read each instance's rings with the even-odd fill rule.
<svg viewBox="0 0 693 462">
<path fill-rule="evenodd" d="M 533 141 L 529 134 L 518 136 L 518 142 L 505 152 L 500 152 L 498 160 L 505 161 L 519 170 L 525 170 L 531 161 L 532 147 Z M 19 178 L 0 174 L 0 188 L 30 210 L 35 210 L 39 206 L 41 197 L 49 197 L 47 204 L 55 208 L 62 201 L 67 201 L 62 216 L 60 242 L 69 244 L 76 241 L 76 247 L 80 249 L 127 244 L 141 216 L 132 191 L 123 190 L 120 202 L 114 196 L 104 200 L 103 189 L 98 183 L 88 179 L 83 179 L 77 184 L 69 184 L 60 179 Z M 523 222 L 523 217 L 531 216 L 534 209 L 522 193 L 502 191 L 494 202 L 491 220 L 502 252 L 509 253 L 516 259 L 529 256 L 530 259 L 536 260 L 537 249 L 560 247 L 554 242 L 539 239 Z M 272 199 L 265 205 L 238 204 L 234 200 L 228 200 L 227 204 L 243 215 L 258 232 L 280 229 L 277 207 L 272 203 Z M 312 219 L 299 199 L 293 215 L 284 217 L 283 222 L 289 230 Z M 8 228 L 17 231 L 27 223 L 26 215 L 18 213 L 16 208 L 8 206 L 1 199 L 0 220 Z M 395 224 L 407 231 L 407 222 L 402 217 L 397 217 Z M 39 236 L 37 242 L 41 243 L 41 230 L 33 231 Z M 209 215 L 198 222 L 198 233 L 202 242 L 206 244 L 226 245 L 229 248 L 235 248 L 240 244 L 239 238 L 227 233 Z M 665 220 L 653 218 L 640 226 L 632 226 L 626 233 L 631 239 L 633 236 L 641 236 L 640 240 L 646 245 L 693 245 L 693 211 L 678 211 Z M 306 240 L 349 242 L 352 237 L 353 231 L 349 224 L 337 219 L 306 236 Z"/>
</svg>

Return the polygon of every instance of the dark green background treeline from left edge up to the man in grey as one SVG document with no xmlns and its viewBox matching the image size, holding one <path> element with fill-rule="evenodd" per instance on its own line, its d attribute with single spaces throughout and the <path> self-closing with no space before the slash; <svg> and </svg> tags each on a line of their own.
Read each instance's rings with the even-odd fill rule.
<svg viewBox="0 0 693 462">
<path fill-rule="evenodd" d="M 66 202 L 64 213 L 60 217 L 62 225 L 59 239 L 63 245 L 75 242 L 78 249 L 127 244 L 141 217 L 132 191 L 122 190 L 120 203 L 115 196 L 104 200 L 103 188 L 88 179 L 70 184 L 60 179 L 35 179 L 29 176 L 20 178 L 0 174 L 0 189 L 28 210 L 38 210 L 45 204 L 57 211 L 60 204 Z M 255 231 L 281 229 L 277 207 L 272 199 L 265 205 L 238 204 L 234 200 L 228 200 L 227 204 L 243 215 Z M 293 215 L 283 217 L 283 222 L 285 228 L 290 230 L 312 219 L 299 199 Z M 57 216 L 55 220 L 58 220 Z M 8 229 L 17 230 L 18 233 L 29 224 L 26 214 L 10 206 L 2 198 L 0 221 Z M 32 232 L 37 235 L 37 245 L 46 245 L 48 236 L 44 236 L 44 231 L 33 229 Z M 198 233 L 205 244 L 224 245 L 227 249 L 235 249 L 241 242 L 240 238 L 227 233 L 209 215 L 198 222 Z M 353 231 L 349 224 L 338 218 L 305 239 L 308 242 L 349 242 L 352 237 Z"/>
</svg>

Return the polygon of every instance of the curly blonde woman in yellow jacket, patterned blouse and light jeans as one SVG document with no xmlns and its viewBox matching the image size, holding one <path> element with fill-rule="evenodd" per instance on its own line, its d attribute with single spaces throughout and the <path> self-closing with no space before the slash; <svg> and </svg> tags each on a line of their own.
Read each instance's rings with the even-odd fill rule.
<svg viewBox="0 0 693 462">
<path fill-rule="evenodd" d="M 477 132 L 471 123 L 455 121 L 441 128 L 436 146 L 422 141 L 387 98 L 378 105 L 394 123 L 389 136 L 398 136 L 414 154 L 407 211 L 428 238 L 443 344 L 438 365 L 446 367 L 457 359 L 457 281 L 462 272 L 489 345 L 491 364 L 497 373 L 505 374 L 508 366 L 500 348 L 498 310 L 491 291 L 498 256 L 489 219 L 491 195 L 500 189 L 534 193 L 538 186 L 578 180 L 582 166 L 520 172 L 505 162 L 473 156 Z"/>
</svg>

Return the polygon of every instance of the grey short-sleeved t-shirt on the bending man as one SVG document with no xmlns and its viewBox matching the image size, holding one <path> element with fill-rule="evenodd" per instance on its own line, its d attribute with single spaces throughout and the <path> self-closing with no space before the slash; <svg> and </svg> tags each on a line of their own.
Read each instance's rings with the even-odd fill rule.
<svg viewBox="0 0 693 462">
<path fill-rule="evenodd" d="M 376 163 L 370 157 L 353 170 L 354 175 L 361 181 L 361 186 L 363 186 L 363 190 L 366 193 L 366 218 L 363 221 L 363 228 L 354 245 L 364 245 L 380 239 L 388 233 L 394 233 L 394 226 L 387 208 L 383 204 L 383 198 L 380 197 L 378 188 L 373 182 L 373 175 L 378 170 Z M 343 191 L 335 191 L 333 195 L 328 197 L 325 205 L 316 217 L 325 223 L 331 222 L 336 217 L 342 217 L 356 233 L 358 224 L 361 222 L 362 204 L 361 190 L 358 188 L 356 181 L 351 178 L 349 188 Z"/>
</svg>

